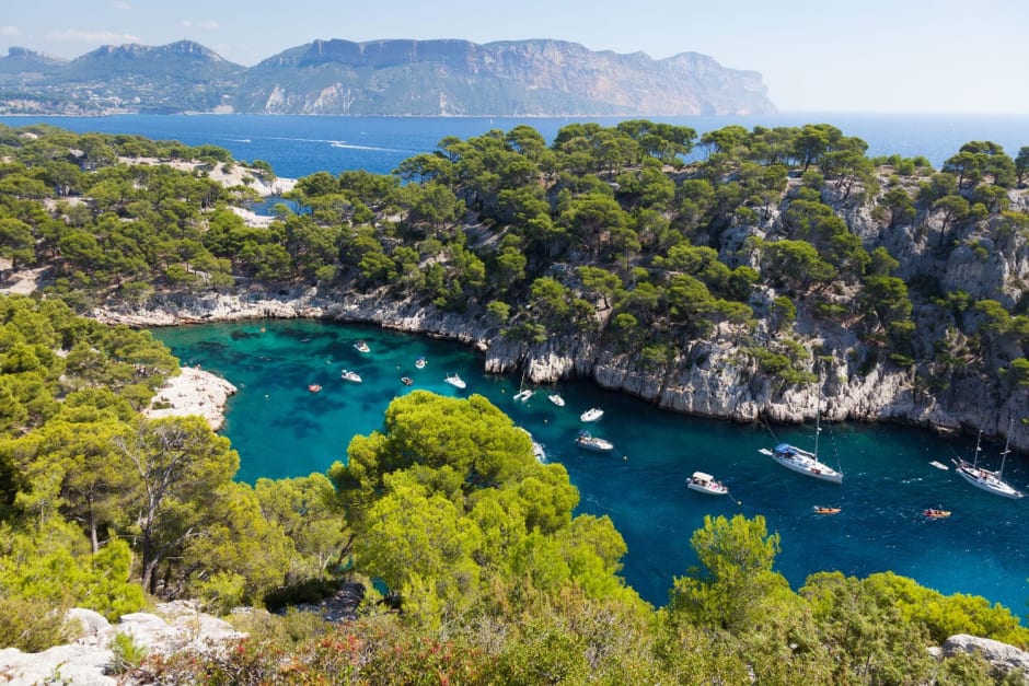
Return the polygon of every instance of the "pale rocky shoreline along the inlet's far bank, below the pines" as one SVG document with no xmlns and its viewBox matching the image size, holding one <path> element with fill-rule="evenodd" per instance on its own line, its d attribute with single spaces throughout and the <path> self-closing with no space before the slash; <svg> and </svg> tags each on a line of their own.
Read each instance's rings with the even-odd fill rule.
<svg viewBox="0 0 1029 686">
<path fill-rule="evenodd" d="M 511 341 L 483 317 L 440 312 L 412 300 L 395 300 L 385 292 L 325 293 L 314 287 L 268 289 L 251 287 L 231 293 L 165 293 L 146 306 L 109 304 L 91 316 L 132 327 L 232 322 L 257 318 L 319 318 L 379 324 L 384 328 L 448 338 L 483 353 L 489 373 L 524 371 L 533 383 L 591 379 L 606 389 L 621 391 L 682 414 L 739 422 L 798 423 L 813 421 L 821 406 L 826 421 L 889 421 L 941 433 L 983 430 L 1001 437 L 1008 417 L 1029 415 L 1026 399 L 993 407 L 982 402 L 988 388 L 968 387 L 944 404 L 918 394 L 912 374 L 881 365 L 858 373 L 846 360 L 826 363 L 823 395 L 814 384 L 777 389 L 740 363 L 729 339 L 694 344 L 670 370 L 654 372 L 636 367 L 589 338 L 553 337 L 542 344 Z M 1029 449 L 1029 427 L 1015 422 L 1011 445 Z"/>
</svg>

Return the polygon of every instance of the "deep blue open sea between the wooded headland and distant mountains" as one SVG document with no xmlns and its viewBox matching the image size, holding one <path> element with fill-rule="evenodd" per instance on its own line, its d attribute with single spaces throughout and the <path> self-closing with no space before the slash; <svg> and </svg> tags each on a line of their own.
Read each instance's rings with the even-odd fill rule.
<svg viewBox="0 0 1029 686">
<path fill-rule="evenodd" d="M 623 117 L 624 118 L 624 117 Z M 782 113 L 740 117 L 650 117 L 694 128 L 698 135 L 739 124 L 802 126 L 832 124 L 868 143 L 868 154 L 925 155 L 939 168 L 944 160 L 973 140 L 991 140 L 1013 158 L 1029 146 L 1029 117 L 1018 115 L 911 115 Z M 492 129 L 509 131 L 519 124 L 535 128 L 548 141 L 573 121 L 614 126 L 610 117 L 311 117 L 299 115 L 119 115 L 108 117 L 0 117 L 8 126 L 44 121 L 77 132 L 139 133 L 189 146 L 210 143 L 236 160 L 264 160 L 276 174 L 298 178 L 314 172 L 338 174 L 365 168 L 389 174 L 403 160 L 429 152 L 447 136 L 471 138 Z M 698 152 L 697 154 L 703 154 Z"/>
</svg>

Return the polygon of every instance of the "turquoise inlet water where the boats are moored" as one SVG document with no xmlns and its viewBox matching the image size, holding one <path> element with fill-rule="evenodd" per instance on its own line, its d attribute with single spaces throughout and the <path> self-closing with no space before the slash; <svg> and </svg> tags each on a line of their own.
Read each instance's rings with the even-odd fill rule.
<svg viewBox="0 0 1029 686">
<path fill-rule="evenodd" d="M 894 426 L 831 426 L 821 440 L 823 460 L 846 474 L 843 485 L 794 474 L 758 452 L 774 442 L 765 427 L 674 415 L 591 383 L 562 383 L 564 408 L 541 388 L 527 403 L 512 398 L 518 379 L 486 375 L 482 359 L 458 344 L 375 327 L 312 321 L 255 321 L 155 329 L 183 363 L 200 364 L 239 386 L 222 431 L 240 452 L 239 478 L 324 473 L 346 458 L 355 434 L 382 423 L 390 400 L 414 388 L 488 397 L 543 443 L 547 458 L 564 464 L 579 489 L 579 511 L 610 515 L 625 537 L 624 575 L 655 604 L 668 600 L 675 575 L 695 559 L 690 536 L 705 514 L 738 512 L 766 518 L 782 536 L 777 568 L 794 588 L 807 574 L 840 570 L 864 577 L 892 570 L 944 593 L 972 593 L 1017 615 L 1029 600 L 1029 548 L 1022 544 L 1029 502 L 980 491 L 953 470 L 929 466 L 938 460 L 971 457 L 974 437 L 945 440 Z M 354 344 L 366 340 L 368 353 Z M 423 370 L 414 367 L 425 356 Z M 344 368 L 363 383 L 339 379 Z M 466 391 L 443 382 L 459 373 Z M 405 386 L 402 376 L 415 383 Z M 308 391 L 319 383 L 320 393 Z M 578 450 L 579 414 L 604 409 L 590 425 L 615 445 L 614 454 Z M 774 427 L 778 440 L 810 446 L 812 427 Z M 988 466 L 998 466 L 999 446 L 985 445 Z M 690 491 L 685 479 L 703 470 L 721 479 L 730 497 Z M 1029 487 L 1029 466 L 1009 460 L 1007 480 Z M 835 515 L 811 508 L 833 504 Z M 952 510 L 947 520 L 927 520 L 926 508 Z"/>
</svg>

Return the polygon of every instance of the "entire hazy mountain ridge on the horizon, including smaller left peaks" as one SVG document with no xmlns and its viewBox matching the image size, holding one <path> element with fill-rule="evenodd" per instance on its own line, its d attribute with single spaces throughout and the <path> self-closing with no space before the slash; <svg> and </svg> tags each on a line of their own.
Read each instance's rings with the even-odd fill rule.
<svg viewBox="0 0 1029 686">
<path fill-rule="evenodd" d="M 552 39 L 314 40 L 254 67 L 192 40 L 0 58 L 0 114 L 680 116 L 775 112 L 761 73 Z"/>
</svg>

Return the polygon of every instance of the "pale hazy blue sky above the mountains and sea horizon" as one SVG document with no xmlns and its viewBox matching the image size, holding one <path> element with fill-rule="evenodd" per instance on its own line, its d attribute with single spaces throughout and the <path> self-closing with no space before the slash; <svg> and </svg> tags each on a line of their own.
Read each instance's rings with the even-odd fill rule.
<svg viewBox="0 0 1029 686">
<path fill-rule="evenodd" d="M 695 51 L 784 112 L 1029 115 L 1027 0 L 4 0 L 0 50 L 74 58 L 187 38 L 251 66 L 315 38 L 557 38 Z"/>
</svg>

